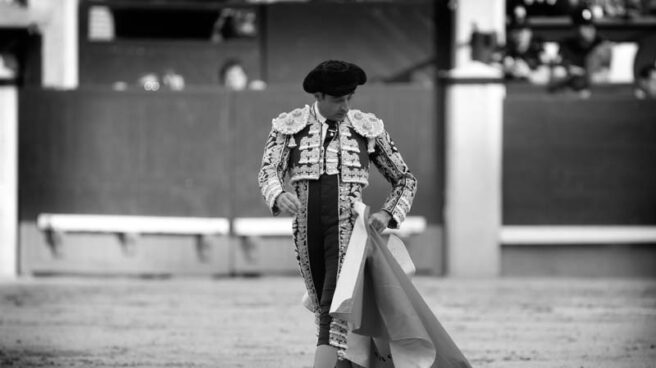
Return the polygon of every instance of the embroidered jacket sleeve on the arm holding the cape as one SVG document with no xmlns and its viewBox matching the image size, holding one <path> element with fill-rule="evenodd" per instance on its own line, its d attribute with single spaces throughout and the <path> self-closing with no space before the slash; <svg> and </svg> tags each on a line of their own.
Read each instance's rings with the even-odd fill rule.
<svg viewBox="0 0 656 368">
<path fill-rule="evenodd" d="M 376 138 L 371 159 L 385 180 L 392 184 L 392 191 L 382 209 L 392 216 L 389 227 L 398 229 L 412 207 L 417 192 L 417 179 L 408 169 L 387 131 Z"/>
</svg>

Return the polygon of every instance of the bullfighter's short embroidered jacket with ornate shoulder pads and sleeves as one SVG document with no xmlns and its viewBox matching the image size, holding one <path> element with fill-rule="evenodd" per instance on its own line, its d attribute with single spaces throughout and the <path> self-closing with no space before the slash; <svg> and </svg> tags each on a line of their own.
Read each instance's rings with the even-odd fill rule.
<svg viewBox="0 0 656 368">
<path fill-rule="evenodd" d="M 322 123 L 309 105 L 282 113 L 273 119 L 258 181 L 262 195 L 274 215 L 276 199 L 289 182 L 317 180 L 322 173 L 339 174 L 341 183 L 369 184 L 369 164 L 392 185 L 383 204 L 390 213 L 390 227 L 397 228 L 412 206 L 417 180 L 403 161 L 383 121 L 374 114 L 350 110 L 339 124 L 338 139 L 324 150 Z"/>
</svg>

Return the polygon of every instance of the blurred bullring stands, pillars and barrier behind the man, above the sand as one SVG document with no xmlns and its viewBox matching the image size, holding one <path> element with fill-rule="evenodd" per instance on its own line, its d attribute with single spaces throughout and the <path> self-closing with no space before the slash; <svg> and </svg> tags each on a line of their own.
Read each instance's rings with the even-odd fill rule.
<svg viewBox="0 0 656 368">
<path fill-rule="evenodd" d="M 256 176 L 331 58 L 419 273 L 656 276 L 653 0 L 1 0 L 0 274 L 296 273 Z"/>
</svg>

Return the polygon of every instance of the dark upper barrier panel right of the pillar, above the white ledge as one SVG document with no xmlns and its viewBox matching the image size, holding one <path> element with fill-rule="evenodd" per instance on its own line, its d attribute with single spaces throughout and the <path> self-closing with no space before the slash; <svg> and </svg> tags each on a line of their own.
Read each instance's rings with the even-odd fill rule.
<svg viewBox="0 0 656 368">
<path fill-rule="evenodd" d="M 656 224 L 655 122 L 631 96 L 508 96 L 503 223 Z"/>
</svg>

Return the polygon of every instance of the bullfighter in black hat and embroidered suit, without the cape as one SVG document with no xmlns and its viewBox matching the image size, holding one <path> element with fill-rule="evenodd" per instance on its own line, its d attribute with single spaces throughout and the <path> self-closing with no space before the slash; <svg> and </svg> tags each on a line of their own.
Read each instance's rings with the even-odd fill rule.
<svg viewBox="0 0 656 368">
<path fill-rule="evenodd" d="M 373 162 L 392 185 L 382 209 L 368 219 L 377 231 L 397 228 L 410 210 L 417 180 L 375 115 L 350 108 L 366 82 L 355 64 L 329 60 L 305 77 L 315 102 L 273 119 L 258 180 L 274 215 L 294 215 L 301 275 L 318 321 L 315 368 L 334 367 L 346 348 L 346 323 L 328 311 L 355 216 Z M 289 175 L 292 191 L 283 187 Z"/>
</svg>

